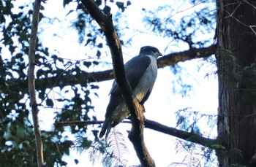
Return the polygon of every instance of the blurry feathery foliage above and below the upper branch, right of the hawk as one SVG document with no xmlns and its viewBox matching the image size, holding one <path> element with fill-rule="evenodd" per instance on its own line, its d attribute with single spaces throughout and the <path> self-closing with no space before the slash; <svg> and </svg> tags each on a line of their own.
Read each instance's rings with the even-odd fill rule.
<svg viewBox="0 0 256 167">
<path fill-rule="evenodd" d="M 165 49 L 167 53 L 193 50 L 213 43 L 212 32 L 216 25 L 214 2 L 185 1 L 182 6 L 165 5 L 154 11 L 144 9 L 143 13 L 145 15 L 143 23 L 146 27 L 149 26 L 154 34 L 162 36 L 169 42 Z M 193 85 L 191 79 L 190 83 L 185 79 L 191 77 L 190 71 L 185 71 L 185 68 L 179 64 L 171 66 L 170 71 L 175 75 L 172 78 L 172 93 L 182 97 L 189 96 Z"/>
</svg>

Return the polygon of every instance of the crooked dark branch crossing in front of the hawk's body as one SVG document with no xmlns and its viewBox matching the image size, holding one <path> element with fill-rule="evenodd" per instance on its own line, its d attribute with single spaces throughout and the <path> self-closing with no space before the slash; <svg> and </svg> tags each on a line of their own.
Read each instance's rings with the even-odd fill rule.
<svg viewBox="0 0 256 167">
<path fill-rule="evenodd" d="M 129 85 L 127 77 L 124 71 L 124 61 L 121 51 L 121 42 L 118 39 L 116 30 L 113 27 L 111 16 L 105 15 L 100 11 L 97 4 L 92 0 L 81 0 L 87 11 L 94 18 L 99 26 L 104 31 L 108 45 L 110 47 L 112 60 L 113 60 L 113 72 L 121 91 L 124 101 L 127 104 L 129 112 L 131 114 L 132 129 L 129 133 L 129 140 L 132 142 L 133 147 L 137 153 L 142 166 L 155 166 L 154 160 L 149 155 L 146 144 L 144 143 L 143 128 L 144 128 L 144 115 L 143 107 L 138 103 L 137 98 L 133 97 L 132 88 Z"/>
</svg>

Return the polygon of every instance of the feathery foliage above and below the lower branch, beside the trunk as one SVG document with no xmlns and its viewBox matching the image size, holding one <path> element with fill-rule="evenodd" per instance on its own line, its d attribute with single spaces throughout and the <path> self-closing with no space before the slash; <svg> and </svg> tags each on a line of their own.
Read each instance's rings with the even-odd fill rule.
<svg viewBox="0 0 256 167">
<path fill-rule="evenodd" d="M 178 128 L 199 134 L 200 136 L 210 136 L 211 131 L 217 124 L 217 116 L 201 114 L 200 112 L 192 111 L 189 107 L 178 110 L 176 112 L 176 119 L 176 126 Z M 203 128 L 206 129 L 207 124 L 210 129 L 207 133 L 202 133 L 199 128 L 201 127 L 199 124 L 202 121 L 206 122 L 203 122 Z M 170 166 L 212 166 L 212 164 L 217 163 L 216 157 L 212 156 L 214 149 L 203 147 L 190 141 L 181 141 L 178 139 L 176 141 L 176 152 L 184 152 L 185 157 L 181 162 L 171 163 Z M 215 147 L 218 147 L 218 145 L 215 144 Z"/>
</svg>

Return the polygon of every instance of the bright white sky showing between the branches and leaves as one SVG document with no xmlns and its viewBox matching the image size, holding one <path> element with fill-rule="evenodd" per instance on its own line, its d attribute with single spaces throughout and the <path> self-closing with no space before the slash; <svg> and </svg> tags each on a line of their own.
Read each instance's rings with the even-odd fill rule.
<svg viewBox="0 0 256 167">
<path fill-rule="evenodd" d="M 77 60 L 84 59 L 85 56 L 90 55 L 90 48 L 79 45 L 77 41 L 77 32 L 70 31 L 69 29 L 71 21 L 76 18 L 76 15 L 70 14 L 66 16 L 67 12 L 75 6 L 69 5 L 64 9 L 62 1 L 63 0 L 48 0 L 44 4 L 44 14 L 50 18 L 58 18 L 58 20 L 54 21 L 53 25 L 45 26 L 43 24 L 39 24 L 39 31 L 42 31 L 41 36 L 44 36 L 43 38 L 39 37 L 39 39 L 42 40 L 42 44 L 49 46 L 50 52 L 54 53 L 55 50 L 58 50 L 63 58 L 72 58 Z M 165 50 L 167 44 L 170 43 L 170 39 L 163 39 L 160 36 L 155 36 L 150 32 L 150 28 L 143 26 L 141 23 L 142 8 L 155 10 L 161 5 L 170 3 L 173 3 L 176 7 L 180 7 L 179 11 L 181 12 L 173 15 L 176 19 L 180 18 L 181 15 L 187 14 L 186 12 L 192 12 L 190 7 L 184 5 L 181 1 L 132 1 L 132 5 L 127 8 L 126 12 L 124 12 L 127 16 L 123 18 L 124 21 L 129 23 L 130 27 L 129 30 L 126 30 L 127 32 L 124 38 L 132 38 L 132 44 L 130 46 L 122 46 L 125 62 L 133 56 L 138 55 L 140 47 L 146 45 L 157 47 L 163 55 L 188 49 L 187 46 L 182 45 L 178 47 L 173 46 L 172 50 Z M 113 12 L 115 12 L 115 9 L 113 9 Z M 135 31 L 138 29 L 148 33 Z M 61 34 L 59 32 L 61 32 Z M 214 36 L 213 33 L 208 35 Z M 203 38 L 204 36 L 198 36 L 198 39 Z M 100 61 L 111 63 L 111 56 L 108 48 L 103 49 L 106 50 L 106 53 L 102 56 Z M 198 71 L 198 66 L 200 66 L 201 63 L 203 62 L 200 60 L 178 63 L 179 66 L 184 68 L 182 71 L 182 78 L 184 79 L 184 82 L 192 85 L 193 88 L 189 93 L 189 96 L 185 97 L 182 97 L 177 93 L 173 93 L 173 82 L 176 82 L 177 77 L 170 72 L 170 67 L 158 70 L 158 77 L 154 85 L 154 89 L 145 104 L 146 119 L 157 121 L 163 125 L 176 127 L 175 112 L 177 112 L 178 109 L 191 107 L 193 111 L 199 111 L 203 114 L 217 114 L 217 77 L 206 77 L 208 72 L 216 71 L 216 67 L 212 66 L 212 64 L 206 64 L 206 66 L 203 66 L 200 71 Z M 105 69 L 106 68 L 103 66 L 93 70 L 103 71 Z M 111 66 L 108 66 L 107 69 L 111 69 Z M 91 96 L 92 105 L 95 106 L 95 112 L 98 120 L 105 119 L 105 109 L 108 106 L 109 101 L 108 93 L 112 83 L 113 80 L 97 83 L 97 85 L 99 85 L 99 90 L 97 90 L 98 97 Z M 40 127 L 45 128 L 45 130 L 52 129 L 53 117 L 53 114 L 49 114 L 47 112 L 39 113 L 39 118 L 42 120 L 40 122 Z M 205 124 L 206 121 L 202 121 L 202 123 L 199 124 L 203 127 L 202 132 L 209 131 Z M 129 155 L 127 155 L 126 158 L 129 158 L 130 165 L 139 164 L 139 160 L 132 144 L 127 138 L 127 131 L 130 130 L 131 125 L 121 123 L 117 128 L 126 139 L 126 144 L 129 148 Z M 211 134 L 212 137 L 216 136 L 216 128 Z M 152 131 L 150 129 L 144 130 L 144 136 L 148 151 L 151 153 L 151 156 L 155 160 L 157 166 L 168 166 L 172 162 L 183 160 L 184 153 L 176 153 L 176 139 L 174 137 L 167 136 L 163 133 Z M 75 165 L 75 158 L 79 160 L 78 165 Z M 71 155 L 69 157 L 64 156 L 64 160 L 68 161 L 68 166 L 92 166 L 89 162 L 88 152 L 80 154 L 76 150 L 71 150 Z M 102 165 L 101 163 L 96 163 L 94 166 Z"/>
</svg>

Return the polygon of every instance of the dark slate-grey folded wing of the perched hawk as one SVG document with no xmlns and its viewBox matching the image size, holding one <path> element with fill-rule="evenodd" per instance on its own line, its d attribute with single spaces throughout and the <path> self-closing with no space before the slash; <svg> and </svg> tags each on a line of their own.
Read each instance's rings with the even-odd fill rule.
<svg viewBox="0 0 256 167">
<path fill-rule="evenodd" d="M 124 65 L 124 70 L 127 75 L 127 79 L 129 81 L 129 85 L 132 87 L 132 90 L 136 88 L 138 85 L 138 82 L 140 81 L 140 78 L 145 73 L 146 69 L 148 69 L 148 66 L 151 63 L 151 59 L 148 56 L 136 56 L 135 58 L 132 58 L 130 61 L 128 61 Z M 113 82 L 113 87 L 110 90 L 110 94 L 116 94 L 120 93 L 118 89 L 118 85 L 116 81 Z"/>
</svg>

